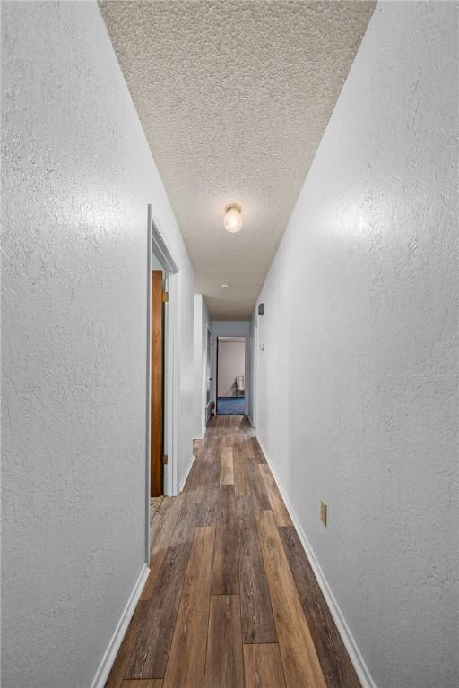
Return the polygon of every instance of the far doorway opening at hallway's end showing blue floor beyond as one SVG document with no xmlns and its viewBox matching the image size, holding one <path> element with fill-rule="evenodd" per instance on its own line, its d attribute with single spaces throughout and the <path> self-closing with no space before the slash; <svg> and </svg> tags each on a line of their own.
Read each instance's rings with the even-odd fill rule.
<svg viewBox="0 0 459 688">
<path fill-rule="evenodd" d="M 217 337 L 217 415 L 245 413 L 246 338 Z"/>
</svg>

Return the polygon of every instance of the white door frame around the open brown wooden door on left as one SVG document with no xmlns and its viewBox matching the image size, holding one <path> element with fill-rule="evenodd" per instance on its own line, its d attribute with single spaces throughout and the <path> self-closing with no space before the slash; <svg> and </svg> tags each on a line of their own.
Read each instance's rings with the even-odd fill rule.
<svg viewBox="0 0 459 688">
<path fill-rule="evenodd" d="M 145 453 L 145 515 L 146 561 L 150 562 L 150 444 L 151 444 L 151 402 L 152 402 L 152 254 L 160 262 L 165 273 L 165 288 L 169 301 L 164 315 L 164 453 L 168 463 L 164 467 L 164 495 L 178 494 L 178 284 L 177 262 L 153 219 L 152 204 L 147 210 L 147 383 L 146 383 L 146 453 Z"/>
</svg>

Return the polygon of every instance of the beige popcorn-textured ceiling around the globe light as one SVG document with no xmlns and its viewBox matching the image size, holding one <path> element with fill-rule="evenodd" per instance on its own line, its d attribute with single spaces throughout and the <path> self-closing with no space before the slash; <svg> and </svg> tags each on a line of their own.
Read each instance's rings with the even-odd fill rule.
<svg viewBox="0 0 459 688">
<path fill-rule="evenodd" d="M 373 8 L 100 2 L 213 318 L 250 317 Z"/>
</svg>

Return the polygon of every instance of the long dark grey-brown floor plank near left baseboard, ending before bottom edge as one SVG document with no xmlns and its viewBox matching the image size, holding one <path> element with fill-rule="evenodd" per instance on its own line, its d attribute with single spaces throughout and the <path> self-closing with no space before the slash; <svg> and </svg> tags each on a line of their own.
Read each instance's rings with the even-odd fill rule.
<svg viewBox="0 0 459 688">
<path fill-rule="evenodd" d="M 162 678 L 178 614 L 178 603 L 201 505 L 184 503 L 177 528 L 152 589 L 135 640 L 126 678 Z"/>
</svg>

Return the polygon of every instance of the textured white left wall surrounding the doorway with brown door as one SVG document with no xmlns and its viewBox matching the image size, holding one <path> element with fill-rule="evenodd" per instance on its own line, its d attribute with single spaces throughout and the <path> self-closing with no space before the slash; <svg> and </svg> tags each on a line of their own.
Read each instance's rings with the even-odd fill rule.
<svg viewBox="0 0 459 688">
<path fill-rule="evenodd" d="M 147 203 L 193 271 L 94 2 L 4 3 L 4 688 L 89 688 L 145 562 Z"/>
</svg>

